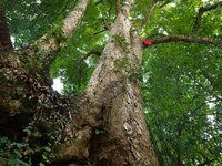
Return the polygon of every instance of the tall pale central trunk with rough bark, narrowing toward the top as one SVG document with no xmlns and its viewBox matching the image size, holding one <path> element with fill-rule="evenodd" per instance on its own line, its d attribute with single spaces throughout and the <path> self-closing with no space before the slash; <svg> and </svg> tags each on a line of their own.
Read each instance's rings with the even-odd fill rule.
<svg viewBox="0 0 222 166">
<path fill-rule="evenodd" d="M 100 63 L 87 86 L 91 111 L 101 111 L 101 125 L 91 141 L 92 165 L 158 165 L 142 110 L 137 74 L 142 45 L 131 33 L 128 0 L 119 12 Z"/>
</svg>

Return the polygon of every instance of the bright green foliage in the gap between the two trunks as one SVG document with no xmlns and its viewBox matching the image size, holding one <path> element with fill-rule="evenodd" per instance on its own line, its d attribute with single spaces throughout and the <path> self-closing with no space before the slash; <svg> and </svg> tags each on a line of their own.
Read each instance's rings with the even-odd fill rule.
<svg viewBox="0 0 222 166">
<path fill-rule="evenodd" d="M 92 49 L 102 51 L 104 48 L 107 32 L 94 33 L 103 30 L 103 21 L 111 21 L 105 10 L 108 7 L 108 3 L 101 3 L 94 8 L 94 2 L 90 1 L 81 24 L 51 68 L 52 77 L 61 77 L 64 83 L 63 93 L 65 94 L 82 93 L 98 63 L 98 55 L 91 55 L 87 60 L 82 60 L 82 58 Z M 80 70 L 82 72 L 81 81 L 79 80 Z"/>
</svg>

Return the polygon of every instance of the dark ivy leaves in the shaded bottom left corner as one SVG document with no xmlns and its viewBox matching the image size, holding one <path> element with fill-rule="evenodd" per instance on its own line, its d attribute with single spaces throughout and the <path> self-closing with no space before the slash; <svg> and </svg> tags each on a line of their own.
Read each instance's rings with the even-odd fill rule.
<svg viewBox="0 0 222 166">
<path fill-rule="evenodd" d="M 64 124 L 67 120 L 64 116 L 58 117 L 59 115 L 41 116 L 37 120 L 33 120 L 24 127 L 21 142 L 14 142 L 6 136 L 0 136 L 0 165 L 9 166 L 30 166 L 33 164 L 33 156 L 37 154 L 41 158 L 40 163 L 34 163 L 34 165 L 44 166 L 51 163 L 51 159 L 54 157 L 53 147 L 61 144 L 61 129 L 57 123 Z M 60 122 L 59 122 L 60 121 Z M 48 122 L 47 125 L 43 123 Z M 51 124 L 50 124 L 51 122 Z M 38 124 L 44 125 L 44 128 L 48 131 L 44 135 L 39 131 Z M 49 125 L 50 124 L 50 125 Z M 43 145 L 39 145 L 38 138 L 48 138 Z"/>
</svg>

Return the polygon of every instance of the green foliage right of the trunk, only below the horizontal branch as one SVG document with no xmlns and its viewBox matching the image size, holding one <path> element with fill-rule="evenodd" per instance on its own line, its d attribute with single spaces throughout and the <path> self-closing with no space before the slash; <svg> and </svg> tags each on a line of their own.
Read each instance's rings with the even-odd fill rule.
<svg viewBox="0 0 222 166">
<path fill-rule="evenodd" d="M 221 54 L 218 48 L 184 43 L 145 52 L 143 101 L 162 165 L 178 165 L 178 156 L 184 165 L 222 159 L 222 123 L 215 120 L 222 89 L 203 74 L 221 80 Z"/>
</svg>

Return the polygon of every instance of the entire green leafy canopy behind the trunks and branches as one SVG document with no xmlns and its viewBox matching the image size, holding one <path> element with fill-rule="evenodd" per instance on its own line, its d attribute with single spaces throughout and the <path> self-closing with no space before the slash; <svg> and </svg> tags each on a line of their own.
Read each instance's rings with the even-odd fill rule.
<svg viewBox="0 0 222 166">
<path fill-rule="evenodd" d="M 33 43 L 60 25 L 77 0 L 1 0 L 7 11 L 14 48 Z M 222 38 L 222 10 L 203 14 L 200 28 L 192 34 L 198 9 L 219 0 L 159 1 L 141 38 L 168 35 Z M 131 13 L 138 29 L 151 0 L 137 0 Z M 51 66 L 51 76 L 63 82 L 63 93 L 80 94 L 97 66 L 99 55 L 83 59 L 91 50 L 104 48 L 108 28 L 115 18 L 114 1 L 91 0 L 85 17 Z M 221 45 L 162 43 L 143 53 L 141 90 L 149 129 L 161 165 L 220 165 L 222 163 L 222 49 Z M 140 76 L 141 77 L 141 76 Z M 22 158 L 28 146 L 0 138 L 0 147 L 14 146 L 12 156 Z M 46 152 L 50 152 L 47 148 Z M 3 154 L 0 151 L 0 156 Z M 4 154 L 6 155 L 6 154 Z M 29 162 L 29 158 L 27 159 Z M 44 160 L 46 162 L 46 160 Z M 13 164 L 12 164 L 13 165 Z"/>
</svg>

